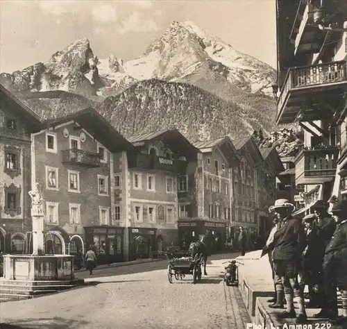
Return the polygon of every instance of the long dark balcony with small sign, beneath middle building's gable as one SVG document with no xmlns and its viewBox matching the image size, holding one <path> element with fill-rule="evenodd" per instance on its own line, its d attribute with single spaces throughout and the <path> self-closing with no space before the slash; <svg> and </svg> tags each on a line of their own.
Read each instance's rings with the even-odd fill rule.
<svg viewBox="0 0 347 329">
<path fill-rule="evenodd" d="M 166 171 L 172 174 L 185 174 L 187 161 L 167 159 L 146 153 L 133 153 L 128 156 L 128 167 L 132 169 Z"/>
</svg>

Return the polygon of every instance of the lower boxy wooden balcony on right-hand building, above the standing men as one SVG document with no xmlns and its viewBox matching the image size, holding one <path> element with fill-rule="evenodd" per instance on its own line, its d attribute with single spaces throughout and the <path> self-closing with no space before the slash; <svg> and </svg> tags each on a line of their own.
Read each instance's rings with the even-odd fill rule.
<svg viewBox="0 0 347 329">
<path fill-rule="evenodd" d="M 321 184 L 335 178 L 338 146 L 305 147 L 296 156 L 296 185 Z"/>
</svg>

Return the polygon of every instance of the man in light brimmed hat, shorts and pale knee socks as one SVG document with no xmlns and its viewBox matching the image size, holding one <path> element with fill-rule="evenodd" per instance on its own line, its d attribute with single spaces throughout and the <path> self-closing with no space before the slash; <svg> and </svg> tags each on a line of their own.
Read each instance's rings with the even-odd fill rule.
<svg viewBox="0 0 347 329">
<path fill-rule="evenodd" d="M 279 227 L 273 236 L 273 268 L 281 278 L 285 290 L 287 309 L 280 318 L 295 318 L 294 298 L 298 303 L 296 323 L 307 321 L 303 291 L 298 284 L 301 270 L 301 255 L 305 249 L 305 231 L 300 220 L 291 216 L 295 206 L 286 199 L 276 200 L 272 207 L 279 220 Z"/>
</svg>

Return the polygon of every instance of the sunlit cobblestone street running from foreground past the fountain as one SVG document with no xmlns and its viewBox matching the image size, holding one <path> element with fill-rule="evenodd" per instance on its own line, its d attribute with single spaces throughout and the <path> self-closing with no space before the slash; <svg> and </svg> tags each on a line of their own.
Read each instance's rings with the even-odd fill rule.
<svg viewBox="0 0 347 329">
<path fill-rule="evenodd" d="M 10 326 L 0 328 L 245 328 L 241 296 L 223 284 L 228 258 L 213 256 L 196 285 L 192 276 L 170 284 L 166 261 L 81 272 L 86 287 L 1 303 L 1 323 Z"/>
</svg>

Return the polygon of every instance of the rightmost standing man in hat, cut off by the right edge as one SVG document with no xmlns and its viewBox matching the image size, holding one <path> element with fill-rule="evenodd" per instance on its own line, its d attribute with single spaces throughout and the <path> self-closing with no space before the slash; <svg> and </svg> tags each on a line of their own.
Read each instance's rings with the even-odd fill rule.
<svg viewBox="0 0 347 329">
<path fill-rule="evenodd" d="M 325 248 L 323 262 L 325 305 L 314 317 L 328 317 L 345 325 L 347 324 L 347 200 L 334 203 L 331 212 L 337 227 Z M 340 318 L 337 317 L 337 287 L 341 291 L 342 299 Z"/>
</svg>

